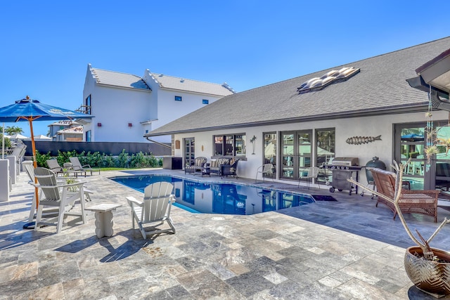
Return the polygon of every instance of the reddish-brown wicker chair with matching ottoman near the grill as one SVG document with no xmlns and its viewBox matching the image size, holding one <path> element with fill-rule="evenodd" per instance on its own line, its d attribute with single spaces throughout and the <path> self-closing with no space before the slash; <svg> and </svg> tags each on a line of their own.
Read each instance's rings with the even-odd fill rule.
<svg viewBox="0 0 450 300">
<path fill-rule="evenodd" d="M 386 198 L 394 199 L 395 176 L 396 174 L 382 169 L 371 169 L 373 180 L 378 193 L 385 195 Z M 401 189 L 399 207 L 404 214 L 415 213 L 433 216 L 437 222 L 437 197 L 439 190 L 405 190 Z M 378 197 L 375 207 L 378 203 L 383 203 L 394 212 L 394 220 L 397 216 L 397 209 L 392 202 L 384 197 Z"/>
</svg>

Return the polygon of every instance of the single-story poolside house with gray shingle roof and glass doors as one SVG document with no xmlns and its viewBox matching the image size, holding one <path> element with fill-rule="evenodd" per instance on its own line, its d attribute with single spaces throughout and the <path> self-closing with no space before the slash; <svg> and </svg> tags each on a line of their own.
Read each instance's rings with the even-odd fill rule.
<svg viewBox="0 0 450 300">
<path fill-rule="evenodd" d="M 240 158 L 240 177 L 255 178 L 257 168 L 271 162 L 276 179 L 285 182 L 297 181 L 303 167 L 321 167 L 333 157 L 357 157 L 365 166 L 376 156 L 388 169 L 392 160 L 411 157 L 405 174 L 411 187 L 435 188 L 424 152 L 428 95 L 406 79 L 449 48 L 446 37 L 235 93 L 146 136 L 174 135 L 174 155 L 188 164 L 192 156 Z M 438 138 L 450 138 L 443 127 L 448 112 L 435 109 L 432 117 L 441 129 Z M 437 159 L 450 163 L 445 150 Z M 366 183 L 364 169 L 359 181 Z"/>
</svg>

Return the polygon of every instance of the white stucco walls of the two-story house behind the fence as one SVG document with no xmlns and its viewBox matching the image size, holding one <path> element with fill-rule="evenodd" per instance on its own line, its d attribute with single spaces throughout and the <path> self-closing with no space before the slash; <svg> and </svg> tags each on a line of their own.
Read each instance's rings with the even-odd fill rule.
<svg viewBox="0 0 450 300">
<path fill-rule="evenodd" d="M 84 125 L 84 132 L 91 130 L 91 141 L 148 142 L 143 138 L 144 134 L 204 107 L 203 99 L 212 103 L 222 98 L 203 93 L 162 89 L 160 84 L 152 79 L 148 70 L 142 78 L 151 91 L 99 85 L 88 67 L 83 101 L 91 95 L 91 114 L 94 118 L 90 124 Z M 175 101 L 175 96 L 181 96 L 182 101 Z M 98 123 L 101 123 L 101 126 L 97 126 Z M 129 127 L 129 123 L 133 126 Z M 153 140 L 170 143 L 171 138 L 159 136 Z"/>
</svg>

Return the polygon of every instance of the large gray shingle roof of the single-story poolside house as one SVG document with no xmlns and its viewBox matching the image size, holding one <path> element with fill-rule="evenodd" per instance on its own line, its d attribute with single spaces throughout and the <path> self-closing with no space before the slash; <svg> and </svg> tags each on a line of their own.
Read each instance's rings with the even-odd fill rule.
<svg viewBox="0 0 450 300">
<path fill-rule="evenodd" d="M 165 124 L 148 136 L 418 110 L 428 104 L 427 93 L 411 88 L 406 79 L 416 77 L 416 67 L 448 48 L 450 37 L 235 93 Z M 341 67 L 356 67 L 361 72 L 321 91 L 298 93 L 304 81 Z"/>
</svg>

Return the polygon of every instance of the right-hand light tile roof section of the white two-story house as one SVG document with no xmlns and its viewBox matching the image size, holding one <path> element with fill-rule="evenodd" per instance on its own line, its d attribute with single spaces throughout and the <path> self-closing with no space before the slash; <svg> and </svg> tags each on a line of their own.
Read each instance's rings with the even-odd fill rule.
<svg viewBox="0 0 450 300">
<path fill-rule="evenodd" d="M 151 73 L 160 86 L 165 89 L 177 89 L 180 91 L 191 91 L 194 93 L 205 93 L 216 96 L 229 96 L 233 93 L 226 88 L 226 84 L 213 84 L 211 82 L 172 77 L 164 74 Z"/>
</svg>

